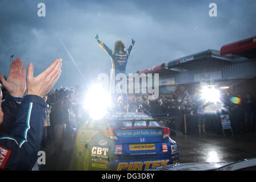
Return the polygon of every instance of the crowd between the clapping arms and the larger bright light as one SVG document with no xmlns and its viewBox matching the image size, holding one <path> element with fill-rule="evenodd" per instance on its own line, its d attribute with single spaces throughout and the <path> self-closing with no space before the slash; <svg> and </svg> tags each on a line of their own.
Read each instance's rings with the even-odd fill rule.
<svg viewBox="0 0 256 182">
<path fill-rule="evenodd" d="M 63 150 L 63 139 L 74 140 L 78 123 L 81 121 L 82 102 L 79 89 L 50 90 L 46 95 L 48 104 L 49 121 L 45 121 L 42 147 L 55 144 L 59 150 Z"/>
</svg>

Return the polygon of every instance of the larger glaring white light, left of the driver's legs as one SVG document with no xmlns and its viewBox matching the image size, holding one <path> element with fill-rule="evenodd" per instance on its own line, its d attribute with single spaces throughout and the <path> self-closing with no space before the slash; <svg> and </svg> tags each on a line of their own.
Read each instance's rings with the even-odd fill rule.
<svg viewBox="0 0 256 182">
<path fill-rule="evenodd" d="M 111 105 L 111 97 L 100 84 L 91 86 L 88 90 L 84 107 L 89 111 L 93 119 L 101 119 L 107 113 L 107 108 Z"/>
</svg>

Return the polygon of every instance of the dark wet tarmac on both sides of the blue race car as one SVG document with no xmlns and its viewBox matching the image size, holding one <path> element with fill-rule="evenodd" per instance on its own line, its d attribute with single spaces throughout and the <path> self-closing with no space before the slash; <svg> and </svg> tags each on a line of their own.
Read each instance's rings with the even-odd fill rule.
<svg viewBox="0 0 256 182">
<path fill-rule="evenodd" d="M 179 148 L 180 163 L 237 162 L 256 158 L 256 134 L 226 135 L 206 133 L 172 136 Z M 41 148 L 46 152 L 46 165 L 39 170 L 68 170 L 74 142 L 63 148 L 51 144 Z"/>
</svg>

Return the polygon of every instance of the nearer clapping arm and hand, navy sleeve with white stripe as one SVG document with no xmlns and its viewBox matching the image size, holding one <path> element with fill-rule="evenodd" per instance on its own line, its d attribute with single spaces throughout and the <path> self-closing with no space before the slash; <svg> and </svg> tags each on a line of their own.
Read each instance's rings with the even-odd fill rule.
<svg viewBox="0 0 256 182">
<path fill-rule="evenodd" d="M 31 170 L 37 161 L 47 106 L 42 97 L 61 75 L 61 62 L 62 59 L 55 60 L 37 77 L 33 76 L 33 64 L 29 64 L 27 96 L 17 120 L 9 135 L 0 133 L 0 169 Z"/>
</svg>

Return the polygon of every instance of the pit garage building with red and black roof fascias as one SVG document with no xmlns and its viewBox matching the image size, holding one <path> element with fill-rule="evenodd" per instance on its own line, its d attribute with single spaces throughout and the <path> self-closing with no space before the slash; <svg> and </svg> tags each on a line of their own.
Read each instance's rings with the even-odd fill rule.
<svg viewBox="0 0 256 182">
<path fill-rule="evenodd" d="M 159 73 L 159 93 L 187 90 L 197 94 L 202 82 L 245 96 L 256 90 L 256 36 L 162 63 L 138 73 Z M 183 93 L 183 92 L 182 92 Z"/>
</svg>

